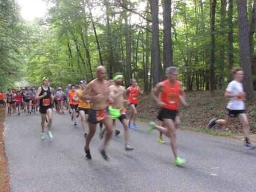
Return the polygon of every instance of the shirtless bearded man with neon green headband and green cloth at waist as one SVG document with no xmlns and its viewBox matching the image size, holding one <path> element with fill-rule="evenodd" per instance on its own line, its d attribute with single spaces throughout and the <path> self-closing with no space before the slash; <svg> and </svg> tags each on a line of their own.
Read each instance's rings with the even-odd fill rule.
<svg viewBox="0 0 256 192">
<path fill-rule="evenodd" d="M 110 116 L 115 121 L 119 119 L 124 128 L 124 140 L 125 140 L 125 150 L 133 150 L 134 148 L 128 144 L 129 142 L 129 129 L 127 125 L 127 118 L 125 115 L 126 109 L 124 108 L 124 102 L 128 102 L 125 100 L 125 89 L 121 86 L 123 81 L 122 73 L 114 74 L 114 84 L 110 86 L 110 98 L 111 98 L 111 106 L 109 106 Z M 101 137 L 103 137 L 104 129 L 101 130 Z"/>
</svg>

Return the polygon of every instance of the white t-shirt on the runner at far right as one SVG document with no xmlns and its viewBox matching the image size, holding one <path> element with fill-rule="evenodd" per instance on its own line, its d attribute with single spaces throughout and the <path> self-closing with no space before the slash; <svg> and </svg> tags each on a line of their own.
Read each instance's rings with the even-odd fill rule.
<svg viewBox="0 0 256 192">
<path fill-rule="evenodd" d="M 230 94 L 236 95 L 238 92 L 244 92 L 243 84 L 241 82 L 232 80 L 228 83 L 226 91 Z M 238 97 L 230 97 L 227 103 L 227 109 L 230 110 L 244 110 L 244 101 L 238 100 Z"/>
</svg>

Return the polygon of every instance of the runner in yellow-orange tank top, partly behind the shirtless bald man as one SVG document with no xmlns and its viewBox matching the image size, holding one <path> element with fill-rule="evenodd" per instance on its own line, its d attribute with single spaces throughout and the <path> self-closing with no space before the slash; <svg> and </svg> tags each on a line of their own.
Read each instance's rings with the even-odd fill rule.
<svg viewBox="0 0 256 192">
<path fill-rule="evenodd" d="M 78 101 L 78 110 L 82 119 L 82 129 L 84 132 L 84 138 L 87 136 L 86 131 L 86 121 L 88 120 L 89 110 L 90 110 L 90 100 L 82 100 L 80 98 L 82 92 L 86 90 L 86 81 L 80 81 L 80 89 L 76 92 L 73 100 Z"/>
</svg>

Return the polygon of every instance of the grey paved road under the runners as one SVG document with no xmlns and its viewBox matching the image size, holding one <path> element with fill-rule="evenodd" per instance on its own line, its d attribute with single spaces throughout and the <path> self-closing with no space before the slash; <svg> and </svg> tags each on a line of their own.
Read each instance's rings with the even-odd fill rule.
<svg viewBox="0 0 256 192">
<path fill-rule="evenodd" d="M 175 166 L 170 146 L 147 134 L 147 124 L 131 131 L 133 152 L 124 151 L 123 130 L 107 154 L 98 153 L 99 129 L 84 156 L 81 123 L 53 115 L 53 139 L 40 139 L 40 115 L 22 112 L 6 117 L 5 151 L 12 192 L 17 191 L 256 191 L 256 150 L 242 141 L 178 132 L 178 154 L 187 163 Z M 164 137 L 165 141 L 167 138 Z"/>
</svg>

